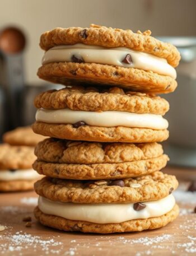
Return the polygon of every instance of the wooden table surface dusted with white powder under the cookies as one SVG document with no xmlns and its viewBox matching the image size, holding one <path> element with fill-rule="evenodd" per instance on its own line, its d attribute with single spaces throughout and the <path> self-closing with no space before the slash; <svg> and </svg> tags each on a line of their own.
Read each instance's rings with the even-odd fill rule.
<svg viewBox="0 0 196 256">
<path fill-rule="evenodd" d="M 37 197 L 34 192 L 2 193 L 0 225 L 6 229 L 0 231 L 0 255 L 196 255 L 196 196 L 193 201 L 190 192 L 182 193 L 182 197 L 177 195 L 178 200 L 181 198 L 180 216 L 166 227 L 109 235 L 41 226 L 32 214 Z M 27 216 L 32 217 L 31 227 L 22 221 Z"/>
</svg>

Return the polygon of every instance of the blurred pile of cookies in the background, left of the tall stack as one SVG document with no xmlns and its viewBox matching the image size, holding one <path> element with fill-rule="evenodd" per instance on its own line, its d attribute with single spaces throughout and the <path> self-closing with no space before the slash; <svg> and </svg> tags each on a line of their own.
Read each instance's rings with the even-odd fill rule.
<svg viewBox="0 0 196 256">
<path fill-rule="evenodd" d="M 0 145 L 0 192 L 32 190 L 41 176 L 32 169 L 35 145 L 44 139 L 31 127 L 18 127 L 3 134 Z"/>
</svg>

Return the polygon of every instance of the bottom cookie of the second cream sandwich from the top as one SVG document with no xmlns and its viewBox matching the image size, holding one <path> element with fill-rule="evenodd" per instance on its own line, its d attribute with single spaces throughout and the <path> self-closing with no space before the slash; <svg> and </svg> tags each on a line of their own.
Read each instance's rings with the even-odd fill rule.
<svg viewBox="0 0 196 256">
<path fill-rule="evenodd" d="M 32 124 L 35 133 L 60 139 L 73 141 L 96 141 L 96 142 L 162 142 L 169 137 L 169 131 L 153 130 L 149 128 L 129 127 L 97 127 L 82 125 L 74 128 L 72 124 L 49 124 L 35 122 Z"/>
</svg>

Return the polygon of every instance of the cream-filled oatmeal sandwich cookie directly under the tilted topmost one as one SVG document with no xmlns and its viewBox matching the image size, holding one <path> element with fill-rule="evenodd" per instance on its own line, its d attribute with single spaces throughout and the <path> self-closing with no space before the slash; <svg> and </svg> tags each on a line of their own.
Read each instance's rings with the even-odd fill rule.
<svg viewBox="0 0 196 256">
<path fill-rule="evenodd" d="M 71 87 L 46 91 L 35 99 L 35 133 L 97 142 L 160 142 L 168 138 L 162 117 L 169 103 L 155 95 Z"/>
</svg>

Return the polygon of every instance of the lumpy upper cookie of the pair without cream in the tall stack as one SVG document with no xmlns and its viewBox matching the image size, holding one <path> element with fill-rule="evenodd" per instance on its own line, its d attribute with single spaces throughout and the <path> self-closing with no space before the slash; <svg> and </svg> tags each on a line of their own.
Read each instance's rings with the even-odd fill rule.
<svg viewBox="0 0 196 256">
<path fill-rule="evenodd" d="M 152 143 L 97 143 L 44 139 L 35 147 L 39 161 L 58 164 L 114 164 L 161 156 L 162 145 Z"/>
</svg>

